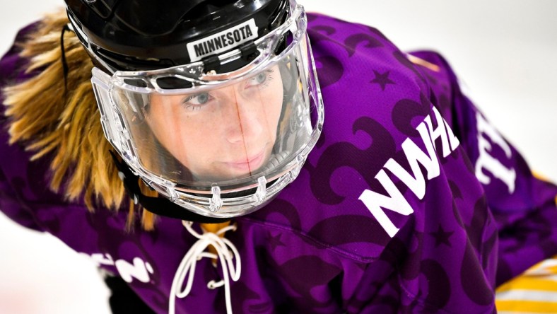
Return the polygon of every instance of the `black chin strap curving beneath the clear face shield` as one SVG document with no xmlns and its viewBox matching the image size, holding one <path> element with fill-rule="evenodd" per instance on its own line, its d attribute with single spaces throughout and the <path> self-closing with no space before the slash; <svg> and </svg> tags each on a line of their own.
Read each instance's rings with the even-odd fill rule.
<svg viewBox="0 0 557 314">
<path fill-rule="evenodd" d="M 151 213 L 159 216 L 198 223 L 223 223 L 225 221 L 230 221 L 228 218 L 214 218 L 195 214 L 193 211 L 189 211 L 178 204 L 170 202 L 170 200 L 165 197 L 148 197 L 144 195 L 139 188 L 139 176 L 134 175 L 124 161 L 119 161 L 116 153 L 110 151 L 110 155 L 118 169 L 119 178 L 124 182 L 124 187 L 129 197 L 134 200 L 135 204 L 141 204 L 143 209 L 151 211 Z"/>
</svg>

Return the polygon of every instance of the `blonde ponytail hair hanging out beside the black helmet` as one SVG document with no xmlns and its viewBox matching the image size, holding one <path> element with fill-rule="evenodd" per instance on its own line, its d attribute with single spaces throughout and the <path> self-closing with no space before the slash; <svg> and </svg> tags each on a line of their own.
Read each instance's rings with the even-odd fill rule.
<svg viewBox="0 0 557 314">
<path fill-rule="evenodd" d="M 10 144 L 20 143 L 33 151 L 31 161 L 52 158 L 49 187 L 54 192 L 62 189 L 69 201 L 83 197 L 91 212 L 98 204 L 117 211 L 122 207 L 124 186 L 109 153 L 112 146 L 102 133 L 90 83 L 93 64 L 71 32 L 64 34 L 69 69 L 64 86 L 60 36 L 67 23 L 64 11 L 45 16 L 20 44 L 20 56 L 29 60 L 26 72 L 38 70 L 39 74 L 4 88 L 6 116 L 11 122 Z M 135 211 L 131 202 L 128 230 L 134 226 Z M 155 220 L 154 214 L 143 210 L 141 225 L 145 230 L 152 230 Z"/>
</svg>

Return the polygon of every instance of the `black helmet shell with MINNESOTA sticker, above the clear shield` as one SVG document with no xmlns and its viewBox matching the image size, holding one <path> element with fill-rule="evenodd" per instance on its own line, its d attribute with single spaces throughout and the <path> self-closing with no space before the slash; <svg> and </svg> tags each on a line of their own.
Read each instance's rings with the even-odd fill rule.
<svg viewBox="0 0 557 314">
<path fill-rule="evenodd" d="M 278 27 L 288 16 L 288 0 L 66 0 L 71 25 L 96 66 L 105 71 L 161 69 L 204 61 L 218 67 L 215 54 L 250 42 Z M 210 42 L 200 42 L 246 21 Z M 253 25 L 254 23 L 254 25 Z M 252 29 L 255 32 L 252 32 Z"/>
</svg>

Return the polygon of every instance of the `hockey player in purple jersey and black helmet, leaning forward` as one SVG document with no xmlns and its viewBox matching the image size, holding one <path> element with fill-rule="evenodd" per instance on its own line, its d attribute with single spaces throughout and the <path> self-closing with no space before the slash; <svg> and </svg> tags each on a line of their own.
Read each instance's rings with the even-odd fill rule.
<svg viewBox="0 0 557 314">
<path fill-rule="evenodd" d="M 493 313 L 557 253 L 557 187 L 438 54 L 287 0 L 66 13 L 0 63 L 0 209 L 156 313 Z"/>
</svg>

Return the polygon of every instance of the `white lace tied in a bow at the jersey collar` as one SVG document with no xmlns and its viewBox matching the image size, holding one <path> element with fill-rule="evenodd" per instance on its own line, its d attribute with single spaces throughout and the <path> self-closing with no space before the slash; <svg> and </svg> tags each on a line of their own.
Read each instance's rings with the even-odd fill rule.
<svg viewBox="0 0 557 314">
<path fill-rule="evenodd" d="M 168 312 L 170 314 L 175 313 L 175 298 L 185 298 L 189 291 L 192 290 L 192 284 L 194 281 L 195 266 L 198 260 L 203 257 L 209 257 L 213 260 L 218 260 L 221 262 L 221 267 L 223 268 L 223 279 L 220 281 L 211 280 L 207 283 L 207 288 L 215 289 L 224 286 L 225 291 L 225 301 L 226 301 L 226 312 L 232 314 L 232 305 L 230 303 L 230 279 L 233 281 L 238 281 L 240 279 L 240 272 L 242 272 L 242 265 L 240 261 L 240 254 L 238 249 L 226 238 L 221 238 L 220 235 L 226 231 L 235 231 L 236 226 L 225 226 L 221 228 L 216 233 L 206 232 L 199 234 L 192 228 L 191 221 L 182 221 L 182 224 L 186 230 L 196 237 L 198 240 L 192 248 L 186 253 L 180 266 L 176 270 L 174 280 L 172 280 L 172 287 L 170 289 L 170 300 L 168 303 Z M 216 254 L 211 252 L 205 252 L 209 245 L 213 245 L 216 250 Z M 235 260 L 235 262 L 233 261 Z M 184 279 L 187 277 L 186 286 L 182 289 L 184 285 Z M 229 278 L 230 277 L 230 278 Z"/>
</svg>

